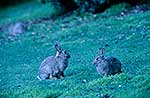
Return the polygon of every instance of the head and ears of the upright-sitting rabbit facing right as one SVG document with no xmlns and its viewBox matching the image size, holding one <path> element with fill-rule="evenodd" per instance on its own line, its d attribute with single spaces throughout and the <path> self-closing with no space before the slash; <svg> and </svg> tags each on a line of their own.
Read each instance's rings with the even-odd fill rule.
<svg viewBox="0 0 150 98">
<path fill-rule="evenodd" d="M 70 54 L 66 50 L 62 50 L 61 46 L 58 43 L 55 44 L 55 49 L 57 51 L 56 53 L 57 58 L 62 58 L 62 59 L 70 58 Z"/>
</svg>

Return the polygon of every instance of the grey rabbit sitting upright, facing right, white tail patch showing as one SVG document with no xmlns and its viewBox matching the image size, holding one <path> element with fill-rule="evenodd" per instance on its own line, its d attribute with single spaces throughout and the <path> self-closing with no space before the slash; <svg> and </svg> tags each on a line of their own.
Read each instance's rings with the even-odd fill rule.
<svg viewBox="0 0 150 98">
<path fill-rule="evenodd" d="M 39 80 L 64 77 L 64 70 L 68 66 L 70 54 L 62 50 L 58 43 L 55 44 L 55 49 L 56 56 L 49 56 L 41 63 L 37 76 Z"/>
</svg>

